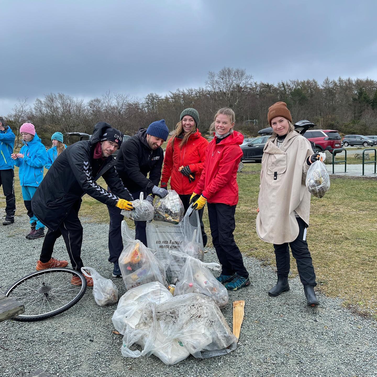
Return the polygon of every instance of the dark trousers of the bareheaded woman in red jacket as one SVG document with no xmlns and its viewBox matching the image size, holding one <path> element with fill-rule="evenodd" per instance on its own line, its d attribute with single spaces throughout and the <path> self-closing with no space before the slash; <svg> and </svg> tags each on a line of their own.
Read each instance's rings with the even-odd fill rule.
<svg viewBox="0 0 377 377">
<path fill-rule="evenodd" d="M 234 213 L 235 205 L 208 203 L 212 243 L 222 265 L 221 274 L 248 277 L 241 251 L 234 241 L 233 232 L 236 228 Z"/>
</svg>

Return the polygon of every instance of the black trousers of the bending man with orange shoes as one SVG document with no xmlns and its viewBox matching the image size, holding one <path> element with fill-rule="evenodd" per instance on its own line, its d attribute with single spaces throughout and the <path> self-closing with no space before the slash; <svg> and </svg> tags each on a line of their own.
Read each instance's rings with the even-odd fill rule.
<svg viewBox="0 0 377 377">
<path fill-rule="evenodd" d="M 81 225 L 80 219 L 78 218 L 80 205 L 81 199 L 74 204 L 57 230 L 52 231 L 49 229 L 47 231 L 42 245 L 41 256 L 39 258 L 41 262 L 46 263 L 51 259 L 56 240 L 60 236 L 63 236 L 72 268 L 76 271 L 81 271 L 81 267 L 83 267 L 84 264 L 81 260 L 83 227 Z"/>
</svg>

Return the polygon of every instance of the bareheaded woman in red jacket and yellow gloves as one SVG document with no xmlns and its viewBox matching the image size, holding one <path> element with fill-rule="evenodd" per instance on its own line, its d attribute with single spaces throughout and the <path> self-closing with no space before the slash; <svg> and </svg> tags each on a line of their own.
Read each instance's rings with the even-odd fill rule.
<svg viewBox="0 0 377 377">
<path fill-rule="evenodd" d="M 237 169 L 242 157 L 239 144 L 244 141 L 244 136 L 233 130 L 234 120 L 231 109 L 216 113 L 210 128 L 215 130 L 215 137 L 208 144 L 202 176 L 190 202 L 196 210 L 208 202 L 212 243 L 222 265 L 221 275 L 216 279 L 235 291 L 250 285 L 250 279 L 233 236 L 238 203 Z"/>
</svg>

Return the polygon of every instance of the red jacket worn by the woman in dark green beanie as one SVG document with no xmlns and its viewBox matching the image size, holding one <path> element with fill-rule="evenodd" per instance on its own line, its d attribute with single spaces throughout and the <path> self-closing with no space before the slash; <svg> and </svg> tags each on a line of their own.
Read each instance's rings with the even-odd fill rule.
<svg viewBox="0 0 377 377">
<path fill-rule="evenodd" d="M 189 137 L 182 149 L 179 147 L 181 141 L 182 139 L 174 139 L 174 152 L 172 150 L 172 139 L 167 143 L 161 184 L 167 184 L 169 178 L 171 178 L 170 187 L 172 190 L 175 190 L 179 195 L 191 195 L 203 170 L 208 140 L 201 136 L 199 131 L 196 131 Z M 195 173 L 195 181 L 191 183 L 189 183 L 189 177 L 179 171 L 179 167 L 187 165 Z"/>
</svg>

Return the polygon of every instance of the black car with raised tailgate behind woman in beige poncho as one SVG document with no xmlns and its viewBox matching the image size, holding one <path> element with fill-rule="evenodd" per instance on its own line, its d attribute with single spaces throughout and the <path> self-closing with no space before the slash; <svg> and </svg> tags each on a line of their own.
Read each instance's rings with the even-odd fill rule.
<svg viewBox="0 0 377 377">
<path fill-rule="evenodd" d="M 299 131 L 301 135 L 313 126 L 315 126 L 315 124 L 307 120 L 302 120 L 294 124 L 295 129 Z M 242 152 L 244 153 L 241 161 L 262 161 L 263 149 L 268 138 L 272 135 L 272 127 L 259 130 L 258 133 L 262 136 L 254 139 L 248 144 L 241 145 Z M 310 142 L 310 144 L 314 153 L 319 152 L 313 142 Z"/>
</svg>

